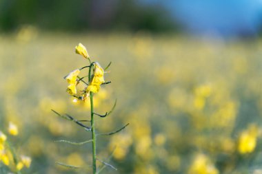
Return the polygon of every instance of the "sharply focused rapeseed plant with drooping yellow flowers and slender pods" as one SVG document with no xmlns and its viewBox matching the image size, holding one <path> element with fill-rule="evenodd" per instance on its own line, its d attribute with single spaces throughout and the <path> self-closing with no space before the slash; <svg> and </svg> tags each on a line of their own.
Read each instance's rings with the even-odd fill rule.
<svg viewBox="0 0 262 174">
<path fill-rule="evenodd" d="M 88 108 L 90 108 L 90 125 L 86 125 L 83 120 L 77 120 L 76 118 L 74 118 L 73 116 L 69 116 L 68 114 L 66 114 L 66 116 L 62 116 L 61 114 L 59 114 L 57 111 L 54 111 L 54 113 L 56 113 L 58 116 L 61 116 L 63 118 L 66 117 L 67 120 L 72 120 L 74 122 L 76 122 L 80 127 L 83 127 L 85 129 L 85 131 L 90 131 L 92 133 L 92 140 L 88 140 L 86 142 L 70 142 L 70 141 L 64 141 L 61 140 L 59 142 L 67 142 L 70 144 L 85 144 L 88 142 L 92 142 L 92 173 L 97 173 L 97 171 L 99 171 L 100 169 L 103 169 L 103 166 L 99 166 L 97 165 L 97 148 L 96 148 L 96 144 L 97 144 L 97 134 L 95 131 L 95 126 L 94 126 L 94 122 L 95 119 L 94 117 L 99 116 L 101 118 L 105 118 L 106 116 L 108 116 L 110 113 L 112 113 L 115 105 L 117 104 L 117 102 L 114 103 L 114 106 L 112 107 L 112 109 L 108 112 L 105 112 L 105 114 L 101 115 L 97 112 L 94 112 L 94 107 L 96 102 L 94 102 L 94 94 L 99 92 L 99 90 L 101 89 L 100 85 L 105 85 L 111 82 L 106 82 L 104 80 L 104 69 L 101 67 L 101 65 L 99 65 L 98 62 L 92 62 L 90 59 L 90 56 L 85 48 L 84 45 L 82 45 L 81 43 L 79 43 L 79 45 L 77 45 L 75 47 L 75 52 L 77 54 L 80 54 L 81 56 L 83 56 L 83 58 L 88 59 L 89 63 L 88 65 L 81 67 L 79 69 L 75 69 L 74 71 L 70 72 L 70 74 L 68 74 L 68 76 L 65 77 L 65 79 L 68 82 L 68 93 L 74 97 L 74 100 L 72 100 L 74 103 L 77 103 L 78 100 L 82 100 L 84 101 L 83 103 L 88 103 L 88 100 L 86 100 L 87 98 L 89 98 L 90 100 L 90 105 L 88 105 Z M 105 68 L 107 69 L 110 66 L 111 62 L 108 64 L 108 66 Z M 79 76 L 80 72 L 82 69 L 88 68 L 88 74 L 86 74 L 85 76 Z M 79 83 L 81 83 L 81 85 L 79 85 Z M 83 83 L 83 84 L 82 84 Z M 79 85 L 77 87 L 77 85 Z M 81 89 L 82 88 L 82 89 Z M 81 90 L 79 90 L 81 89 Z M 106 93 L 101 91 L 101 95 L 98 95 L 98 97 L 100 98 L 105 98 L 106 97 Z M 86 102 L 85 102 L 86 101 Z M 129 124 L 129 123 L 128 123 Z M 111 132 L 111 133 L 105 133 L 106 135 L 112 135 L 114 133 L 118 133 L 119 131 L 121 131 L 122 129 L 125 129 L 125 127 L 128 126 L 128 124 L 125 124 L 124 127 L 122 127 L 121 129 Z M 55 126 L 57 127 L 57 125 Z M 123 155 L 122 155 L 123 156 Z M 81 166 L 84 164 L 83 160 L 81 160 L 81 157 L 79 155 L 77 155 L 77 153 L 72 153 L 72 155 L 70 155 L 68 157 L 68 163 L 72 164 L 74 162 L 78 161 L 79 166 L 74 166 L 74 168 L 81 168 Z M 102 164 L 105 164 L 105 162 L 102 162 L 101 160 L 99 160 Z M 61 162 L 58 162 L 57 164 L 61 165 L 61 166 L 66 166 L 68 167 L 67 164 L 63 164 Z M 110 166 L 111 168 L 114 168 L 114 166 L 109 165 L 109 164 L 105 164 L 106 166 Z M 23 166 L 22 164 L 20 166 Z M 114 168 L 116 169 L 116 168 Z M 100 172 L 100 171 L 99 171 Z"/>
</svg>

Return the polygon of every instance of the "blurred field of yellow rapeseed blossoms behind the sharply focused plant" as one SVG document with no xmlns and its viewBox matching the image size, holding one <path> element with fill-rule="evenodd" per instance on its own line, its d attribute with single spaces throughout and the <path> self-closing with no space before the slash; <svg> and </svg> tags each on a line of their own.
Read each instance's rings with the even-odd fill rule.
<svg viewBox="0 0 262 174">
<path fill-rule="evenodd" d="M 23 173 L 90 173 L 91 144 L 55 140 L 90 139 L 76 124 L 50 109 L 88 119 L 88 103 L 72 102 L 63 79 L 86 65 L 74 53 L 79 42 L 93 61 L 110 66 L 94 96 L 95 110 L 117 107 L 97 118 L 103 173 L 262 173 L 262 42 L 219 41 L 186 36 L 42 33 L 33 28 L 0 35 L 0 130 L 19 127 L 9 137 L 19 153 L 32 157 Z M 241 139 L 242 137 L 242 139 Z M 85 166 L 71 170 L 55 162 Z"/>
</svg>

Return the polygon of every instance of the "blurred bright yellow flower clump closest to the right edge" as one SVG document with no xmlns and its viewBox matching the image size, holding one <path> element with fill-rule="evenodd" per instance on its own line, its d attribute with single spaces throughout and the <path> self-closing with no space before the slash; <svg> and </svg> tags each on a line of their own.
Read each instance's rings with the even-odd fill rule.
<svg viewBox="0 0 262 174">
<path fill-rule="evenodd" d="M 239 137 L 239 153 L 251 153 L 256 148 L 256 137 L 257 137 L 256 125 L 250 125 L 247 130 L 243 131 Z"/>
</svg>

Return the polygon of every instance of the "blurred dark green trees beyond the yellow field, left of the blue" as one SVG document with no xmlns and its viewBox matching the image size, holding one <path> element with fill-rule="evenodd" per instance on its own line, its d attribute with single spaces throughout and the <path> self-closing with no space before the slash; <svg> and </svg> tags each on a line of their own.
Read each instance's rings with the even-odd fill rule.
<svg viewBox="0 0 262 174">
<path fill-rule="evenodd" d="M 12 31 L 21 25 L 41 30 L 83 32 L 86 30 L 149 30 L 174 28 L 160 7 L 144 7 L 134 1 L 0 1 L 0 30 Z"/>
</svg>

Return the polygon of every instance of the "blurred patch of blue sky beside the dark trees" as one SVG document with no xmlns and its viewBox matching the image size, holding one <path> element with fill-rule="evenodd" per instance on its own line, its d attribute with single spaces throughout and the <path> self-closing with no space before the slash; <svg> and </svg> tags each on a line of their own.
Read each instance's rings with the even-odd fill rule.
<svg viewBox="0 0 262 174">
<path fill-rule="evenodd" d="M 256 34 L 262 0 L 141 0 L 163 6 L 185 30 L 218 35 Z"/>
</svg>

